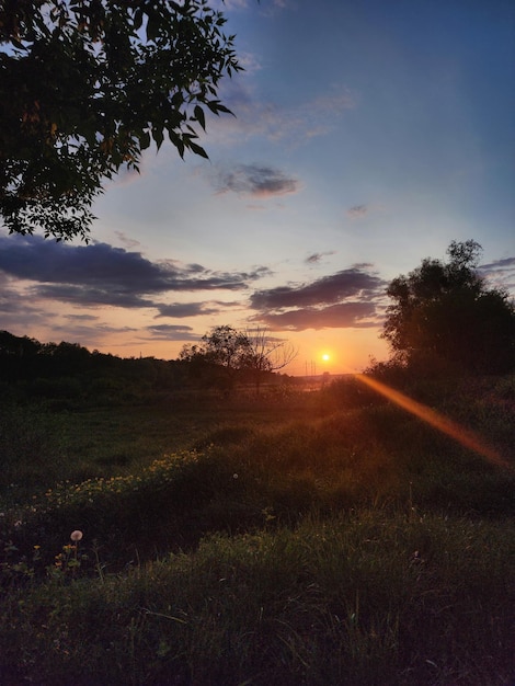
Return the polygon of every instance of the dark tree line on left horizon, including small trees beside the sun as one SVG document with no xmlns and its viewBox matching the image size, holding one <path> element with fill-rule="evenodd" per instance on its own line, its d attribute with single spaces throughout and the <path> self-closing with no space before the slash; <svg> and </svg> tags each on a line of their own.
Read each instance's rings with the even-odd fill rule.
<svg viewBox="0 0 515 686">
<path fill-rule="evenodd" d="M 263 329 L 245 333 L 229 325 L 215 327 L 169 361 L 122 358 L 78 343 L 41 343 L 0 331 L 0 388 L 4 399 L 62 407 L 158 399 L 187 389 L 228 393 L 250 386 L 260 392 L 264 381 L 278 381 L 276 373 L 294 356 L 287 342 L 271 339 Z"/>
</svg>

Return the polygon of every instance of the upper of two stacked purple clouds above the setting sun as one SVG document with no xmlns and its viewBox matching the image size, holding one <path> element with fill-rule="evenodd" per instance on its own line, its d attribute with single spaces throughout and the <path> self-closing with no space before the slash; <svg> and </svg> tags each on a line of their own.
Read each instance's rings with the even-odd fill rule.
<svg viewBox="0 0 515 686">
<path fill-rule="evenodd" d="M 351 267 L 311 284 L 279 286 L 256 290 L 251 296 L 251 307 L 258 310 L 279 310 L 291 307 L 310 307 L 333 304 L 344 298 L 359 296 L 362 299 L 377 297 L 385 289 L 385 282 L 360 268 Z"/>
</svg>

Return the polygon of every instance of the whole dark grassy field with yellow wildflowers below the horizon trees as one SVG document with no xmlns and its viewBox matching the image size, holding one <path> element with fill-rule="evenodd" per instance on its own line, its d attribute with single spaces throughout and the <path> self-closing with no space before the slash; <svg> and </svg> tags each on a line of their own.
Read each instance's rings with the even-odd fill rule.
<svg viewBox="0 0 515 686">
<path fill-rule="evenodd" d="M 512 686 L 513 379 L 0 419 L 0 683 Z M 75 530 L 80 540 L 71 540 Z"/>
</svg>

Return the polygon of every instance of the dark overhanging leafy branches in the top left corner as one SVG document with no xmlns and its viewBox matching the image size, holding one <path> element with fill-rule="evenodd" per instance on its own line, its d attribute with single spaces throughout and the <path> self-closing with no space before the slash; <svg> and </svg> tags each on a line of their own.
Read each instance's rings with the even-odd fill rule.
<svg viewBox="0 0 515 686">
<path fill-rule="evenodd" d="M 0 10 L 0 214 L 10 232 L 87 239 L 90 207 L 167 135 L 181 157 L 240 69 L 207 0 L 8 0 Z"/>
</svg>

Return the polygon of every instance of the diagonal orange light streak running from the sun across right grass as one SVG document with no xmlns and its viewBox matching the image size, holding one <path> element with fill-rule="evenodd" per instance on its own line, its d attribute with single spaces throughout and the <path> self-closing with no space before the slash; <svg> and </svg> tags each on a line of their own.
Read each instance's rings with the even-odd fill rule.
<svg viewBox="0 0 515 686">
<path fill-rule="evenodd" d="M 385 396 L 385 398 L 388 398 L 388 400 L 398 404 L 403 410 L 411 412 L 411 414 L 414 414 L 434 428 L 437 428 L 447 436 L 450 436 L 466 448 L 469 448 L 470 450 L 473 450 L 474 453 L 478 453 L 482 457 L 487 458 L 493 465 L 513 470 L 513 465 L 507 462 L 503 457 L 501 457 L 497 450 L 487 445 L 480 436 L 469 428 L 465 428 L 457 422 L 454 422 L 439 412 L 436 412 L 436 410 L 432 410 L 427 405 L 417 402 L 416 400 L 412 400 L 408 396 L 404 396 L 404 393 L 390 388 L 386 384 L 381 384 L 380 381 L 363 374 L 356 374 L 355 377 L 381 396 Z"/>
</svg>

